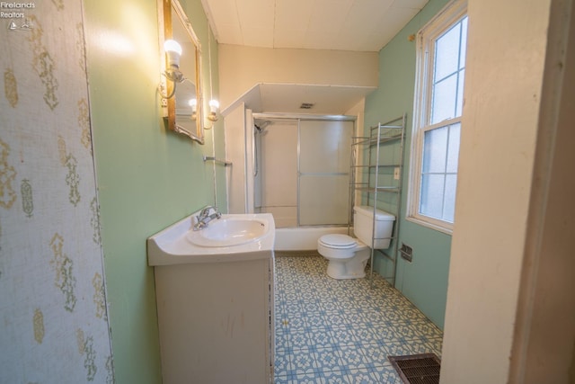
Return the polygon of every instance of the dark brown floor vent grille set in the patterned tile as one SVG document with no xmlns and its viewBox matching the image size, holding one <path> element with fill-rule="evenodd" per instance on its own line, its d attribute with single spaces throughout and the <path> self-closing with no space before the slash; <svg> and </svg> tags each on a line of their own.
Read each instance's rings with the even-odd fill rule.
<svg viewBox="0 0 575 384">
<path fill-rule="evenodd" d="M 438 384 L 441 361 L 435 353 L 388 356 L 405 384 Z"/>
</svg>

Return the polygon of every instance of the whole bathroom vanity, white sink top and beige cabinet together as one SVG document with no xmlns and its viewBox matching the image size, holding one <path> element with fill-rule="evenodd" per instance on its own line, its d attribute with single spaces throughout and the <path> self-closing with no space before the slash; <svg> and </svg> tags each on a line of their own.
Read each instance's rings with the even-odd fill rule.
<svg viewBox="0 0 575 384">
<path fill-rule="evenodd" d="M 271 383 L 273 218 L 223 215 L 205 236 L 191 226 L 147 240 L 164 384 Z"/>
</svg>

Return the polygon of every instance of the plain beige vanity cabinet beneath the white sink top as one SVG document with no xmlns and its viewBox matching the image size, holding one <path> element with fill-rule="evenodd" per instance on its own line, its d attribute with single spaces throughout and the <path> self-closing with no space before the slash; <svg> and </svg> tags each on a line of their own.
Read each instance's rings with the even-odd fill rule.
<svg viewBox="0 0 575 384">
<path fill-rule="evenodd" d="M 273 260 L 155 266 L 164 384 L 272 382 Z"/>
</svg>

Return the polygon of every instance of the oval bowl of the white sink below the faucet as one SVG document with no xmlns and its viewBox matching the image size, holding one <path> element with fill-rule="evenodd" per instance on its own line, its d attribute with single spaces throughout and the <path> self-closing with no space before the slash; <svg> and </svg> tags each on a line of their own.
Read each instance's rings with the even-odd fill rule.
<svg viewBox="0 0 575 384">
<path fill-rule="evenodd" d="M 188 232 L 186 238 L 196 246 L 240 246 L 256 241 L 268 231 L 265 221 L 258 219 L 214 219 L 208 227 Z"/>
</svg>

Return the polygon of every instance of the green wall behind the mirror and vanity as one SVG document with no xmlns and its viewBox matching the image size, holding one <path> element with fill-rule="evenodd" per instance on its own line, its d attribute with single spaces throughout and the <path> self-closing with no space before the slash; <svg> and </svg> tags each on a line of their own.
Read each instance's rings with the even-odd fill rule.
<svg viewBox="0 0 575 384">
<path fill-rule="evenodd" d="M 203 49 L 208 90 L 208 23 L 200 0 L 181 0 Z M 116 382 L 161 382 L 154 270 L 146 237 L 214 202 L 206 145 L 164 129 L 160 99 L 158 22 L 154 0 L 85 0 L 84 33 L 93 151 Z M 217 44 L 212 41 L 217 68 Z M 123 48 L 120 50 L 119 48 Z M 217 70 L 214 71 L 217 89 Z M 217 156 L 223 156 L 218 121 Z M 218 133 L 220 133 L 218 135 Z M 226 206 L 218 170 L 218 202 Z"/>
</svg>

